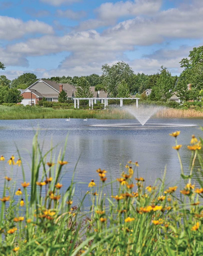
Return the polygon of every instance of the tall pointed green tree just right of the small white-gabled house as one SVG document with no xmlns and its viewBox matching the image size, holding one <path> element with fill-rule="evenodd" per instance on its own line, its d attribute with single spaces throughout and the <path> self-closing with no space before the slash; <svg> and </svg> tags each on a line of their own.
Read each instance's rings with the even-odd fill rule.
<svg viewBox="0 0 203 256">
<path fill-rule="evenodd" d="M 174 87 L 171 73 L 167 70 L 167 68 L 161 67 L 160 76 L 157 79 L 155 86 L 155 94 L 158 99 L 163 99 L 167 101 L 173 95 Z"/>
</svg>

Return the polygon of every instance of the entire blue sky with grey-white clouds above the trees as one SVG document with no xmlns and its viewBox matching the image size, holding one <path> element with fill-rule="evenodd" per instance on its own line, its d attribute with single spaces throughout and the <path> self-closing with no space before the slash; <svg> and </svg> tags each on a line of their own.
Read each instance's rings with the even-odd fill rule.
<svg viewBox="0 0 203 256">
<path fill-rule="evenodd" d="M 123 60 L 135 73 L 178 75 L 203 43 L 202 17 L 202 0 L 1 0 L 0 74 L 101 74 Z"/>
</svg>

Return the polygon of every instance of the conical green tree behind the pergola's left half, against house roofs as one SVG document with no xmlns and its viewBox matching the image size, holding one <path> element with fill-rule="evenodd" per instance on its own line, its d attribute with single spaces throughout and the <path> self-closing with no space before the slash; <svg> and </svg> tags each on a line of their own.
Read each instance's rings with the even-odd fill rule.
<svg viewBox="0 0 203 256">
<path fill-rule="evenodd" d="M 93 93 L 90 90 L 90 83 L 85 77 L 80 77 L 77 80 L 77 91 L 75 93 L 78 98 L 92 98 Z"/>
</svg>

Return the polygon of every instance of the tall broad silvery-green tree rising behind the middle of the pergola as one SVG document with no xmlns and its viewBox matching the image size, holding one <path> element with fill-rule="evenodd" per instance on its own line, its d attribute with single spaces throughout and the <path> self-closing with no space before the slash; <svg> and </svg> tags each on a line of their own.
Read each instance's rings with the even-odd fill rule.
<svg viewBox="0 0 203 256">
<path fill-rule="evenodd" d="M 134 74 L 132 68 L 125 62 L 117 62 L 112 66 L 105 64 L 102 66 L 102 74 L 104 76 L 103 84 L 108 94 L 112 97 L 116 97 L 118 94 L 118 84 L 124 80 L 126 83 L 131 81 Z"/>
</svg>

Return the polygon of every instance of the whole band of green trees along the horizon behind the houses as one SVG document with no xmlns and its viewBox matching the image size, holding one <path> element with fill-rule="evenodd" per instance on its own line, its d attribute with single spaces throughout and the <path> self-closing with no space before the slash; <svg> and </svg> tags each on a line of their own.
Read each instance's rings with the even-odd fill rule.
<svg viewBox="0 0 203 256">
<path fill-rule="evenodd" d="M 57 83 L 69 83 L 77 87 L 76 97 L 92 97 L 91 86 L 95 91 L 103 90 L 109 97 L 129 97 L 135 94 L 144 94 L 146 89 L 151 89 L 149 99 L 152 101 L 167 101 L 176 92 L 182 101 L 196 100 L 199 91 L 203 88 L 203 46 L 193 48 L 188 58 L 180 61 L 180 67 L 184 68 L 180 76 L 172 76 L 166 67 L 161 67 L 157 73 L 147 75 L 135 74 L 132 68 L 125 62 L 119 61 L 112 66 L 105 64 L 101 67 L 102 75 L 91 74 L 89 76 L 56 76 L 44 78 Z M 5 66 L 0 62 L 0 69 Z M 17 89 L 26 89 L 37 81 L 33 73 L 9 80 L 6 76 L 0 76 L 0 104 L 2 102 L 20 102 L 20 92 Z M 191 90 L 187 85 L 191 84 Z M 66 99 L 62 92 L 61 100 Z"/>
</svg>

